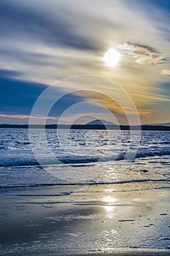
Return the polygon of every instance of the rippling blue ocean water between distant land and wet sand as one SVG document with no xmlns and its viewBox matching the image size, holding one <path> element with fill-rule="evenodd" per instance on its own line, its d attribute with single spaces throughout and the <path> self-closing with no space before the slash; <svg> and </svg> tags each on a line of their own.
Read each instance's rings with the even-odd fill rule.
<svg viewBox="0 0 170 256">
<path fill-rule="evenodd" d="M 46 130 L 54 157 L 44 146 L 41 129 L 0 130 L 0 186 L 6 191 L 48 184 L 121 184 L 142 182 L 167 187 L 170 181 L 170 132 L 142 131 L 140 143 L 129 131 Z M 58 132 L 58 133 L 57 133 Z M 136 131 L 138 136 L 138 131 Z M 36 157 L 32 151 L 36 148 Z M 37 152 L 38 157 L 37 159 Z M 125 154 L 135 153 L 128 162 Z M 40 163 L 43 162 L 41 166 Z M 18 188 L 18 189 L 17 189 Z"/>
</svg>

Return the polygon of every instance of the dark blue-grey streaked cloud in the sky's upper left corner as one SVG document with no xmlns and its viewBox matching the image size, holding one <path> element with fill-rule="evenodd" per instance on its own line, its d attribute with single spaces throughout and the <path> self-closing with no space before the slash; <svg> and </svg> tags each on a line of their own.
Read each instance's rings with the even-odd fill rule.
<svg viewBox="0 0 170 256">
<path fill-rule="evenodd" d="M 42 2 L 43 4 L 43 2 Z M 26 7 L 23 1 L 0 1 L 0 30 L 1 37 L 26 37 L 45 42 L 48 45 L 82 50 L 96 50 L 96 44 L 87 37 L 77 33 L 72 20 L 72 13 L 63 13 L 62 8 L 56 6 L 56 14 L 50 15 L 48 2 L 46 12 L 39 11 L 33 5 Z M 57 4 L 57 2 L 56 2 Z"/>
</svg>

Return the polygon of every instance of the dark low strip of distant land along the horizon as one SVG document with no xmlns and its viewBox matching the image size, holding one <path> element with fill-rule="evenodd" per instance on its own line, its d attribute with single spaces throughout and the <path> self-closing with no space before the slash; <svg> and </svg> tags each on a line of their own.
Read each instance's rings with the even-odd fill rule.
<svg viewBox="0 0 170 256">
<path fill-rule="evenodd" d="M 0 128 L 15 128 L 15 129 L 43 129 L 44 126 L 41 124 L 32 124 L 30 127 L 28 124 L 0 124 Z M 128 125 L 101 125 L 101 124 L 47 124 L 45 125 L 45 129 L 109 129 L 109 130 L 129 130 L 130 127 Z M 131 129 L 139 130 L 140 126 L 136 125 L 131 127 Z M 162 125 L 142 125 L 142 130 L 149 130 L 149 131 L 170 131 L 170 126 L 162 126 Z"/>
</svg>

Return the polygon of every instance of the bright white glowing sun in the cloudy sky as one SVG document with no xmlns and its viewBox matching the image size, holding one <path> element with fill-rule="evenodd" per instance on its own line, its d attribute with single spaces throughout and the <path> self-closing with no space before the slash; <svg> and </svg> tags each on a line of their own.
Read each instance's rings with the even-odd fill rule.
<svg viewBox="0 0 170 256">
<path fill-rule="evenodd" d="M 109 49 L 104 54 L 103 60 L 108 67 L 115 67 L 115 65 L 120 61 L 120 53 L 115 49 Z"/>
</svg>

